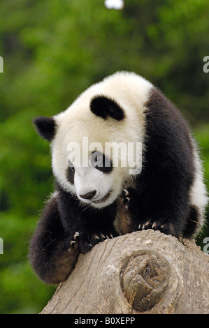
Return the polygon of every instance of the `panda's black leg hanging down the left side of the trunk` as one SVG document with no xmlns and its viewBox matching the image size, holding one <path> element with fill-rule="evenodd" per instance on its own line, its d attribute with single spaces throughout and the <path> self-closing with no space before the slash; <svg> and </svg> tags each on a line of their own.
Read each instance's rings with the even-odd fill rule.
<svg viewBox="0 0 209 328">
<path fill-rule="evenodd" d="M 29 247 L 29 260 L 45 283 L 60 283 L 68 278 L 78 259 L 78 232 L 66 235 L 57 198 L 48 200 Z"/>
</svg>

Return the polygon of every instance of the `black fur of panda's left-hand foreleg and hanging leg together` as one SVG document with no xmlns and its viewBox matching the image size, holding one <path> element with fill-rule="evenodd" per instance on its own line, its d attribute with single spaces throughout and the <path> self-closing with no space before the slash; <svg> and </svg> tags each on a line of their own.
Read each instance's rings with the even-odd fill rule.
<svg viewBox="0 0 209 328">
<path fill-rule="evenodd" d="M 65 281 L 78 253 L 86 253 L 99 241 L 117 236 L 113 226 L 116 202 L 103 209 L 83 208 L 59 184 L 57 191 L 43 211 L 29 250 L 31 266 L 46 283 Z M 75 232 L 79 233 L 76 242 Z"/>
</svg>

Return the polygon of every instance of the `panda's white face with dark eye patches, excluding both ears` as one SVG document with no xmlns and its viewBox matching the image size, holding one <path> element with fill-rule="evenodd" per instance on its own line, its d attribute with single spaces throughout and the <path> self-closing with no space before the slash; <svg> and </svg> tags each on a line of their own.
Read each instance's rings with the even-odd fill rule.
<svg viewBox="0 0 209 328">
<path fill-rule="evenodd" d="M 56 119 L 57 132 L 51 147 L 52 168 L 59 185 L 74 195 L 80 204 L 95 208 L 112 204 L 122 192 L 124 181 L 129 179 L 129 167 L 121 165 L 117 154 L 117 145 L 127 141 L 126 122 L 124 119 L 104 119 L 90 110 L 87 117 L 83 111 L 79 116 L 73 113 L 71 117 L 68 113 L 66 117 Z M 77 146 L 78 158 L 72 156 L 77 153 L 70 151 Z M 87 153 L 85 159 L 82 158 L 84 153 Z"/>
</svg>

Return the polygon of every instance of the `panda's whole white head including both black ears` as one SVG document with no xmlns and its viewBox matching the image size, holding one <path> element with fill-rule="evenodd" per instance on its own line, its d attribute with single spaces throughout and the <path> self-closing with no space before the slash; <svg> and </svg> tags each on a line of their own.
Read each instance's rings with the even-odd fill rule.
<svg viewBox="0 0 209 328">
<path fill-rule="evenodd" d="M 64 112 L 34 119 L 38 133 L 50 141 L 59 185 L 81 204 L 96 208 L 113 203 L 131 179 L 118 145 L 136 142 L 143 134 L 134 105 L 119 90 L 110 82 L 94 84 Z"/>
</svg>

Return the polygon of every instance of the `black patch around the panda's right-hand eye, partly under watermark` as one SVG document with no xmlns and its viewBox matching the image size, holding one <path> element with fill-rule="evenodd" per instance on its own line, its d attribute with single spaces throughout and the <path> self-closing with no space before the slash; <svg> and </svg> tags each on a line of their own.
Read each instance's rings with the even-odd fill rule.
<svg viewBox="0 0 209 328">
<path fill-rule="evenodd" d="M 109 173 L 113 170 L 113 163 L 110 158 L 102 154 L 100 151 L 93 151 L 90 156 L 90 163 L 103 173 Z"/>
</svg>

